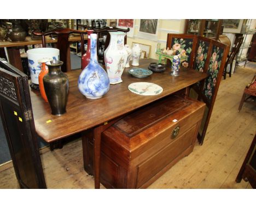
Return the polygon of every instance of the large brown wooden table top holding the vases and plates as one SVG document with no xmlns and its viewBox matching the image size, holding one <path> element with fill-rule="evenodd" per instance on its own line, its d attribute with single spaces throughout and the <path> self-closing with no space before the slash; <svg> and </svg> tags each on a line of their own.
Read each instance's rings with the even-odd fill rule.
<svg viewBox="0 0 256 208">
<path fill-rule="evenodd" d="M 156 60 L 142 59 L 139 61 L 138 68 L 148 68 L 149 63 L 152 62 L 156 62 Z M 125 68 L 121 77 L 122 83 L 110 85 L 108 93 L 96 100 L 87 99 L 79 92 L 78 77 L 81 70 L 67 72 L 69 78 L 67 113 L 61 116 L 51 115 L 49 103 L 44 102 L 39 91 L 30 89 L 34 123 L 38 135 L 46 142 L 53 142 L 74 133 L 88 130 L 207 77 L 207 74 L 189 69 L 182 69 L 178 77 L 173 77 L 170 75 L 171 69 L 167 68 L 164 72 L 154 72 L 149 77 L 137 78 L 127 72 L 131 68 L 133 67 Z M 134 94 L 128 89 L 128 85 L 133 82 L 152 82 L 160 85 L 164 90 L 161 94 L 154 96 Z"/>
</svg>

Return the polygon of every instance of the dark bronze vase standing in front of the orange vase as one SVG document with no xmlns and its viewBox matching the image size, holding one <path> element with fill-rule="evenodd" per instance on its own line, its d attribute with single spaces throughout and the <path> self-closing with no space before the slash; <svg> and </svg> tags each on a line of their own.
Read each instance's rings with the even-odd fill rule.
<svg viewBox="0 0 256 208">
<path fill-rule="evenodd" d="M 66 113 L 68 77 L 61 71 L 62 64 L 60 60 L 46 62 L 49 72 L 43 78 L 45 94 L 53 115 Z"/>
</svg>

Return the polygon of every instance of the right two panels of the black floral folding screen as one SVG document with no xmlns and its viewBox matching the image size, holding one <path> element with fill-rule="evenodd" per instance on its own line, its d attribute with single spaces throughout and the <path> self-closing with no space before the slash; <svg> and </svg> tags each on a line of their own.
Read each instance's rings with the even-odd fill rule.
<svg viewBox="0 0 256 208">
<path fill-rule="evenodd" d="M 200 144 L 205 138 L 228 52 L 228 45 L 205 37 L 198 38 L 194 69 L 208 74 L 205 81 L 196 83 L 192 87 L 197 99 L 205 102 L 208 108 L 208 111 L 205 111 L 205 120 L 202 121 L 200 127 L 202 131 L 199 131 L 197 136 Z"/>
</svg>

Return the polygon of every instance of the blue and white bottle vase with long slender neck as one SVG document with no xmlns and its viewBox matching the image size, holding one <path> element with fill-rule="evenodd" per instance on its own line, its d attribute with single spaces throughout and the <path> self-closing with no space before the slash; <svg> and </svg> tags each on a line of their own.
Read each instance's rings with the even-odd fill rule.
<svg viewBox="0 0 256 208">
<path fill-rule="evenodd" d="M 81 72 L 78 79 L 78 89 L 89 99 L 98 99 L 109 90 L 107 72 L 98 64 L 97 59 L 97 34 L 91 34 L 90 63 Z"/>
</svg>

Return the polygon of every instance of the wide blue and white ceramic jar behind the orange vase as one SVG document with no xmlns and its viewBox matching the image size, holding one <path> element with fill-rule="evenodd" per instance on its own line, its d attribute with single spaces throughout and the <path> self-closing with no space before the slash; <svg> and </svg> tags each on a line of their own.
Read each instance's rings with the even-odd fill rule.
<svg viewBox="0 0 256 208">
<path fill-rule="evenodd" d="M 38 76 L 41 72 L 39 59 L 50 58 L 60 60 L 60 50 L 57 48 L 33 48 L 27 50 L 28 69 L 30 69 L 31 87 L 39 90 Z"/>
</svg>

